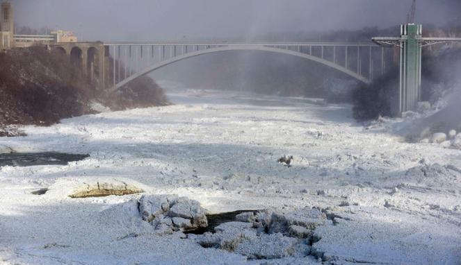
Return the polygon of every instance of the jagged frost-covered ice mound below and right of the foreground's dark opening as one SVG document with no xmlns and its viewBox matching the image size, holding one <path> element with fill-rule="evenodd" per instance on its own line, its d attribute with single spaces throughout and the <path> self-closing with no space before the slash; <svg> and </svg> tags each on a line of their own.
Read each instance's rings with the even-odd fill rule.
<svg viewBox="0 0 461 265">
<path fill-rule="evenodd" d="M 309 208 L 285 214 L 245 212 L 234 222 L 218 225 L 214 233 L 190 234 L 189 238 L 204 248 L 220 248 L 249 259 L 304 257 L 314 229 L 325 220 L 325 214 Z"/>
</svg>

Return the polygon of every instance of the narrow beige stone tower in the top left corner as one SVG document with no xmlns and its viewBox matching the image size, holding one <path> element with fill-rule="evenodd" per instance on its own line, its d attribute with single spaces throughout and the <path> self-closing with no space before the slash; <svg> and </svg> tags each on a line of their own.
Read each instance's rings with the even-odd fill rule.
<svg viewBox="0 0 461 265">
<path fill-rule="evenodd" d="M 0 6 L 0 50 L 15 46 L 13 29 L 13 6 L 9 2 L 3 2 Z"/>
</svg>

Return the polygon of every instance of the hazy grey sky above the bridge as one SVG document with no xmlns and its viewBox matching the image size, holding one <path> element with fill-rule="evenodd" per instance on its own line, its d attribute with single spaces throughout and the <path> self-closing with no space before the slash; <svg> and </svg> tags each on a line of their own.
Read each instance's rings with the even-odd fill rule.
<svg viewBox="0 0 461 265">
<path fill-rule="evenodd" d="M 2 1 L 2 0 L 0 0 Z M 412 0 L 10 0 L 19 26 L 82 40 L 194 40 L 405 22 Z M 417 0 L 416 20 L 447 24 L 461 0 Z"/>
</svg>

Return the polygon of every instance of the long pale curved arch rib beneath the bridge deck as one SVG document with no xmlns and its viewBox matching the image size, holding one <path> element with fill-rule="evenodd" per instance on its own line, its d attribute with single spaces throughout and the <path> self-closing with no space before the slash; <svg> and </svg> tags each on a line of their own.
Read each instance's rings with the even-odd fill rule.
<svg viewBox="0 0 461 265">
<path fill-rule="evenodd" d="M 216 48 L 211 48 L 211 49 L 204 49 L 200 51 L 194 51 L 191 53 L 186 53 L 183 55 L 178 55 L 173 58 L 169 58 L 167 60 L 163 60 L 162 62 L 159 62 L 155 65 L 151 65 L 149 67 L 146 67 L 145 69 L 138 71 L 138 73 L 133 74 L 132 76 L 129 76 L 125 78 L 124 80 L 121 80 L 120 83 L 115 84 L 115 86 L 111 89 L 111 92 L 115 92 L 124 85 L 127 85 L 127 83 L 131 82 L 132 80 L 144 76 L 146 74 L 149 74 L 152 71 L 155 71 L 156 69 L 159 69 L 161 67 L 165 67 L 166 65 L 171 65 L 174 62 L 179 62 L 181 60 L 185 60 L 188 58 L 193 58 L 197 57 L 199 55 L 204 55 L 204 54 L 209 54 L 209 53 L 219 53 L 223 51 L 268 51 L 272 53 L 282 53 L 282 54 L 287 54 L 287 55 L 293 55 L 299 58 L 305 58 L 307 60 L 312 60 L 314 62 L 321 63 L 322 65 L 326 65 L 327 67 L 331 67 L 333 69 L 337 69 L 338 71 L 343 72 L 344 74 L 347 74 L 348 76 L 351 76 L 363 83 L 369 83 L 370 81 L 365 78 L 364 76 L 360 76 L 359 74 L 355 73 L 354 71 L 351 71 L 350 69 L 347 69 L 346 67 L 343 67 L 341 65 L 337 65 L 334 62 L 331 62 L 329 60 L 325 60 L 323 58 L 316 57 L 314 55 L 309 55 L 306 53 L 301 53 L 298 51 L 291 51 L 287 49 L 280 49 L 280 48 L 274 48 L 270 46 L 253 46 L 253 45 L 241 45 L 241 46 L 220 46 Z"/>
</svg>

